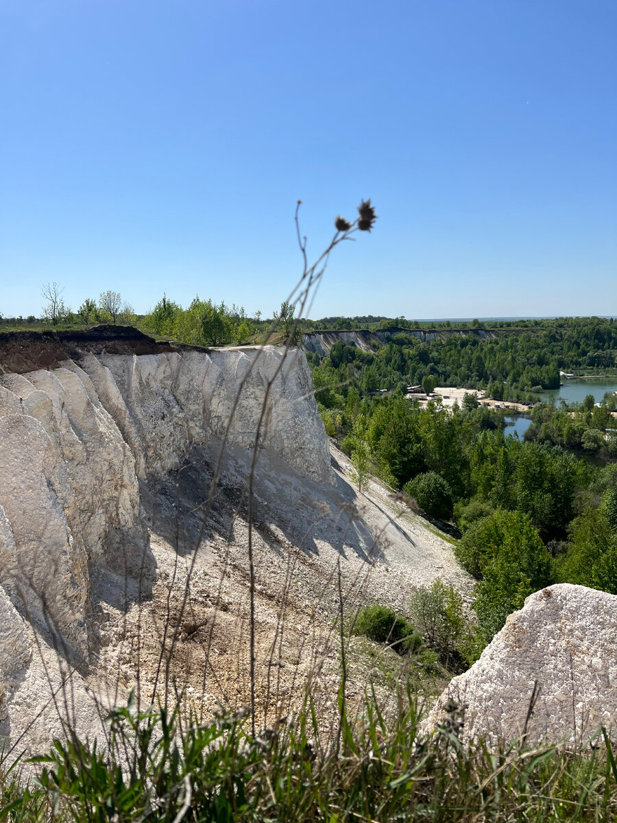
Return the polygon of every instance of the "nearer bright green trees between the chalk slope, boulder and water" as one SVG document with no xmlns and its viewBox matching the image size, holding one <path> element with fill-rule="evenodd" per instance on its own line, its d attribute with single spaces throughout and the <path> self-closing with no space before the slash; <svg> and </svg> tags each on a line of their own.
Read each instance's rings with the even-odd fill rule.
<svg viewBox="0 0 617 823">
<path fill-rule="evenodd" d="M 429 517 L 457 524 L 455 554 L 479 580 L 481 645 L 527 595 L 555 582 L 617 593 L 617 463 L 505 436 L 484 407 L 421 408 L 402 393 L 324 409 L 360 476 L 373 473 Z M 531 435 L 533 436 L 533 435 Z M 617 453 L 615 454 L 617 457 Z"/>
</svg>

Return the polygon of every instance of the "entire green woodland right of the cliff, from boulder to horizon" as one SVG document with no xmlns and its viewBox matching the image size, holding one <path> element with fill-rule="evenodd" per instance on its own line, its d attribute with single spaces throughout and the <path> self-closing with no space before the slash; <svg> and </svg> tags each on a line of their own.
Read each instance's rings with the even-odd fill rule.
<svg viewBox="0 0 617 823">
<path fill-rule="evenodd" d="M 371 471 L 458 529 L 455 554 L 478 580 L 477 649 L 545 585 L 617 593 L 617 398 L 538 404 L 521 442 L 471 393 L 461 407 L 421 407 L 406 387 L 428 378 L 532 399 L 531 390 L 559 386 L 559 370 L 615 373 L 616 354 L 617 324 L 592 318 L 519 324 L 494 339 L 421 342 L 397 332 L 375 351 L 336 342 L 326 357 L 308 355 L 327 432 L 350 455 L 360 487 Z"/>
</svg>

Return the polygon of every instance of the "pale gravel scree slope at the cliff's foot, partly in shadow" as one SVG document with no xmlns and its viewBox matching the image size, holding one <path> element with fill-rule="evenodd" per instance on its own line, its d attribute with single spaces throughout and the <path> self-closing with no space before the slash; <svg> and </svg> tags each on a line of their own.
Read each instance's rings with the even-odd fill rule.
<svg viewBox="0 0 617 823">
<path fill-rule="evenodd" d="M 125 620 L 122 604 L 114 607 L 121 581 L 100 581 L 106 604 L 101 667 L 120 672 L 124 688 L 137 686 L 138 648 L 141 689 L 154 689 L 162 644 L 169 649 L 179 627 L 169 671 L 186 687 L 195 708 L 206 712 L 217 704 L 235 709 L 249 701 L 248 453 L 242 449 L 228 449 L 180 618 L 215 451 L 214 444 L 210 452 L 196 449 L 182 470 L 147 494 L 142 491 L 157 564 L 152 599 L 129 609 Z M 334 447 L 332 465 L 334 486 L 300 477 L 266 453 L 257 463 L 256 677 L 257 705 L 264 719 L 296 705 L 308 681 L 313 694 L 322 695 L 323 716 L 335 710 L 339 568 L 346 621 L 358 607 L 372 602 L 405 613 L 411 592 L 436 577 L 465 597 L 471 593 L 450 542 L 393 500 L 377 481 L 360 494 L 351 484 L 349 461 Z M 350 681 L 350 698 L 360 695 L 364 686 Z"/>
</svg>

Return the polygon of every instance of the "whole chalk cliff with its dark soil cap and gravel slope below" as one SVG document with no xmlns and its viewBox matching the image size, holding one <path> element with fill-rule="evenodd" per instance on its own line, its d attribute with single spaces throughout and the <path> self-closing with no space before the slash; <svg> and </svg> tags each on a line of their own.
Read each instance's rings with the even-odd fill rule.
<svg viewBox="0 0 617 823">
<path fill-rule="evenodd" d="M 100 735 L 132 689 L 247 705 L 249 535 L 259 711 L 291 710 L 318 671 L 335 723 L 336 570 L 346 611 L 404 611 L 436 575 L 465 587 L 452 546 L 331 463 L 301 351 L 117 331 L 0 335 L 0 739 L 15 757 Z"/>
</svg>

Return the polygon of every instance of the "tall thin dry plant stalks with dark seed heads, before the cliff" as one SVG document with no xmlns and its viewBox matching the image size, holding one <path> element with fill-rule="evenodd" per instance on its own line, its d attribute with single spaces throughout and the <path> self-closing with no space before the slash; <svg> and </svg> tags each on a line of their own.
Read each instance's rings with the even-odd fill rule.
<svg viewBox="0 0 617 823">
<path fill-rule="evenodd" d="M 290 291 L 290 294 L 287 295 L 285 302 L 293 307 L 295 310 L 295 318 L 293 327 L 291 328 L 290 333 L 287 335 L 285 339 L 285 343 L 283 346 L 283 353 L 276 366 L 276 370 L 271 375 L 270 379 L 268 379 L 267 384 L 264 388 L 264 394 L 262 399 L 262 406 L 261 412 L 258 417 L 257 421 L 257 429 L 255 431 L 255 438 L 253 444 L 253 451 L 251 456 L 251 463 L 250 463 L 250 471 L 248 473 L 248 487 L 246 491 L 246 500 L 244 500 L 244 496 L 241 497 L 239 503 L 236 507 L 236 514 L 239 514 L 240 507 L 244 504 L 247 505 L 248 514 L 247 514 L 247 525 L 248 525 L 248 607 L 249 607 L 249 616 L 248 616 L 248 646 L 249 646 L 249 694 L 250 694 L 250 723 L 251 723 L 251 733 L 253 738 L 256 737 L 257 734 L 257 704 L 256 704 L 256 654 L 255 654 L 255 641 L 256 641 L 256 574 L 255 574 L 255 565 L 254 565 L 254 481 L 255 475 L 257 470 L 257 461 L 260 449 L 264 440 L 267 437 L 268 432 L 268 415 L 267 415 L 267 407 L 268 401 L 271 396 L 271 389 L 276 382 L 279 374 L 281 374 L 281 370 L 285 366 L 285 361 L 289 355 L 290 350 L 295 346 L 295 339 L 297 337 L 297 332 L 299 330 L 299 319 L 305 316 L 305 313 L 310 311 L 310 307 L 313 304 L 313 299 L 315 294 L 317 293 L 318 286 L 322 281 L 322 277 L 326 272 L 327 265 L 330 260 L 330 255 L 333 249 L 336 248 L 339 244 L 343 243 L 346 240 L 354 240 L 354 235 L 359 231 L 370 231 L 373 228 L 374 221 L 377 219 L 374 208 L 371 205 L 369 200 L 363 201 L 360 203 L 360 207 L 358 208 L 358 217 L 355 221 L 347 221 L 346 218 L 338 216 L 335 220 L 335 233 L 332 236 L 329 244 L 327 244 L 326 249 L 322 251 L 318 255 L 318 258 L 313 263 L 308 262 L 308 253 L 307 253 L 307 238 L 302 235 L 300 230 L 299 224 L 299 210 L 301 206 L 301 201 L 297 202 L 295 208 L 295 229 L 297 240 L 299 244 L 299 251 L 301 253 L 302 261 L 303 261 L 303 269 L 302 273 L 299 277 L 299 280 L 296 282 L 294 288 Z M 271 330 L 268 332 L 266 340 L 268 339 L 271 332 L 276 331 L 276 319 L 274 323 L 272 323 Z M 218 453 L 216 455 L 216 461 L 214 464 L 214 470 L 212 472 L 212 477 L 210 481 L 209 487 L 205 490 L 204 497 L 202 504 L 200 504 L 201 509 L 201 520 L 199 524 L 199 528 L 197 528 L 197 533 L 194 537 L 193 541 L 193 549 L 190 556 L 190 561 L 188 562 L 188 568 L 184 570 L 183 574 L 180 574 L 180 554 L 179 554 L 179 520 L 178 516 L 176 518 L 175 523 L 175 557 L 174 557 L 174 568 L 173 573 L 171 576 L 171 580 L 169 583 L 169 589 L 167 592 L 166 602 L 165 602 L 165 620 L 163 621 L 163 633 L 160 642 L 160 652 L 158 655 L 158 661 L 155 665 L 155 677 L 154 677 L 154 684 L 151 689 L 151 693 L 147 698 L 148 704 L 155 703 L 156 700 L 160 700 L 160 703 L 167 708 L 170 703 L 177 703 L 178 700 L 183 699 L 183 685 L 179 684 L 176 680 L 176 672 L 173 671 L 173 661 L 174 661 L 174 653 L 178 647 L 180 642 L 180 631 L 183 625 L 183 618 L 185 614 L 191 609 L 190 604 L 190 597 L 191 597 L 191 583 L 193 580 L 193 574 L 195 571 L 195 564 L 197 562 L 197 555 L 198 549 L 202 545 L 202 541 L 204 535 L 206 533 L 206 527 L 208 520 L 211 516 L 212 512 L 212 504 L 215 499 L 216 491 L 220 484 L 221 473 L 224 467 L 225 461 L 225 449 L 227 447 L 229 437 L 230 437 L 230 430 L 234 422 L 234 416 L 237 412 L 237 408 L 239 405 L 240 398 L 242 397 L 242 393 L 244 388 L 247 384 L 248 379 L 250 378 L 253 370 L 255 369 L 257 363 L 259 362 L 260 358 L 265 351 L 265 346 L 267 345 L 266 342 L 259 346 L 257 351 L 257 356 L 255 356 L 252 360 L 250 365 L 248 366 L 248 370 L 240 379 L 239 385 L 237 388 L 237 392 L 234 398 L 234 402 L 231 407 L 231 412 L 229 416 L 229 420 L 226 423 L 224 434 L 220 440 L 220 448 L 218 449 Z M 176 509 L 179 510 L 179 507 Z M 317 522 L 320 518 L 317 519 Z M 349 523 L 347 528 L 350 527 L 352 523 L 352 518 L 350 517 Z M 345 539 L 345 533 L 343 532 L 343 536 L 341 539 Z M 308 534 L 308 532 L 307 532 Z M 373 546 L 369 551 L 368 560 L 370 561 L 373 556 L 373 551 L 378 543 L 378 537 L 375 538 L 373 542 Z M 285 633 L 285 617 L 286 611 L 289 607 L 289 598 L 290 598 L 290 591 L 291 591 L 291 583 L 293 579 L 293 574 L 295 572 L 295 568 L 299 558 L 299 552 L 302 550 L 302 546 L 296 546 L 295 551 L 290 553 L 288 557 L 288 564 L 287 570 L 285 573 L 285 583 L 283 586 L 283 592 L 281 593 L 281 606 L 277 616 L 277 625 L 276 630 L 274 633 L 274 639 L 271 644 L 271 652 L 270 652 L 270 660 L 267 667 L 267 686 L 266 686 L 266 698 L 263 704 L 263 723 L 267 723 L 268 720 L 268 710 L 272 703 L 277 702 L 277 699 L 280 695 L 281 689 L 281 667 L 277 667 L 277 674 L 276 674 L 276 684 L 274 685 L 274 695 L 271 696 L 271 667 L 274 664 L 274 658 L 276 656 L 276 649 L 278 649 L 278 659 L 281 661 L 282 656 L 282 649 L 283 649 L 283 637 Z M 123 609 L 123 636 L 128 636 L 128 610 L 129 604 L 131 602 L 131 596 L 128 592 L 128 579 L 129 579 L 129 570 L 128 570 L 128 558 L 127 558 L 127 551 L 125 547 L 124 553 L 124 609 Z M 143 700 L 145 695 L 142 695 L 142 686 L 141 686 L 141 653 L 142 653 L 142 631 L 143 627 L 141 624 L 141 606 L 144 601 L 145 595 L 145 575 L 146 575 L 146 565 L 145 565 L 145 558 L 146 552 L 144 551 L 141 555 L 141 566 L 137 574 L 137 633 L 135 635 L 135 646 L 133 647 L 134 652 L 134 659 L 135 659 L 135 678 L 136 678 L 136 705 L 137 711 L 141 710 L 141 701 Z M 216 679 L 216 672 L 215 668 L 211 663 L 211 649 L 213 643 L 213 636 L 214 636 L 214 629 L 216 625 L 217 616 L 219 615 L 220 605 L 221 605 L 221 595 L 222 595 L 222 585 L 223 580 L 225 578 L 225 574 L 228 570 L 228 560 L 229 558 L 225 559 L 225 563 L 223 565 L 223 569 L 220 574 L 219 586 L 216 595 L 216 604 L 214 607 L 214 616 L 211 620 L 209 626 L 209 632 L 205 643 L 205 664 L 203 667 L 202 672 L 202 695 L 205 693 L 206 688 L 206 680 L 207 678 L 214 677 Z M 360 584 L 360 588 L 364 588 L 366 584 L 366 580 L 368 579 L 368 575 L 370 574 L 370 562 L 366 573 L 364 575 L 364 583 Z M 174 589 L 174 585 L 177 584 L 179 579 L 183 581 L 183 591 L 180 598 L 179 609 L 174 611 L 174 607 L 172 604 L 172 591 Z M 359 583 L 360 573 L 356 575 L 355 579 L 350 584 L 350 591 L 355 588 L 356 584 Z M 32 584 L 32 581 L 25 580 L 26 585 Z M 345 640 L 344 640 L 344 602 L 346 600 L 346 593 L 343 592 L 342 588 L 342 577 L 341 577 L 341 565 L 340 560 L 337 566 L 337 570 L 333 569 L 332 574 L 329 579 L 327 579 L 324 584 L 324 592 L 327 590 L 329 586 L 335 585 L 338 591 L 339 597 L 339 638 L 341 643 L 341 653 L 343 657 L 343 666 L 345 666 Z M 53 619 L 53 612 L 48 607 L 48 604 L 45 602 L 44 593 L 39 593 L 39 600 L 41 602 L 42 613 L 44 615 L 44 622 L 47 626 L 49 632 L 49 639 L 51 644 L 53 644 L 53 648 L 56 652 L 56 657 L 58 661 L 58 671 L 62 674 L 62 687 L 58 690 L 53 686 L 53 679 L 50 676 L 47 667 L 45 667 L 46 676 L 49 682 L 49 689 L 50 689 L 50 700 L 53 702 L 56 713 L 58 714 L 58 718 L 60 718 L 61 723 L 63 723 L 63 728 L 66 731 L 67 739 L 76 739 L 76 723 L 77 723 L 77 709 L 75 705 L 74 695 L 72 691 L 72 676 L 74 672 L 84 672 L 88 668 L 88 661 L 86 658 L 81 657 L 80 655 L 76 654 L 75 649 L 70 648 L 63 638 L 62 630 L 59 629 L 57 625 L 55 625 L 55 621 Z M 313 617 L 314 617 L 314 608 L 313 608 Z M 36 633 L 35 633 L 36 635 Z M 326 651 L 332 648 L 332 641 L 336 636 L 336 629 L 332 628 L 329 632 L 327 639 L 326 639 Z M 241 638 L 241 635 L 240 635 Z M 314 645 L 314 621 L 313 621 L 313 645 Z M 37 644 L 39 644 L 38 637 L 36 638 Z M 304 637 L 299 647 L 299 656 L 301 657 L 304 653 L 304 644 L 308 642 L 308 638 Z M 39 655 L 43 658 L 43 654 L 39 648 Z M 305 693 L 308 693 L 308 690 L 311 688 L 311 684 L 313 681 L 316 681 L 319 677 L 319 672 L 321 671 L 323 665 L 323 659 L 313 659 L 313 669 L 312 673 L 308 677 L 308 682 L 305 685 Z M 295 679 L 297 677 L 297 668 L 296 672 L 293 677 L 291 691 L 290 694 L 294 693 L 295 690 Z M 345 680 L 345 678 L 344 678 Z M 224 688 L 222 684 L 220 685 L 220 691 L 224 694 Z M 119 675 L 116 678 L 115 685 L 114 685 L 114 694 L 112 698 L 112 703 L 115 705 L 118 703 L 119 697 Z M 106 716 L 109 708 L 101 703 L 98 695 L 95 694 L 94 690 L 91 692 L 92 699 L 95 703 L 95 710 L 100 716 L 101 726 L 103 728 L 103 718 Z M 343 692 L 343 701 L 344 701 L 344 692 Z M 112 745 L 111 739 L 109 735 L 107 737 L 107 744 Z M 338 737 L 340 737 L 340 728 Z M 13 746 L 12 750 L 15 746 L 19 743 L 16 741 Z M 132 752 L 124 752 L 124 756 L 127 758 L 128 761 L 135 760 L 137 757 L 137 751 Z"/>
</svg>

